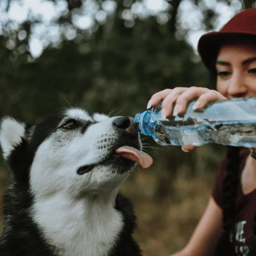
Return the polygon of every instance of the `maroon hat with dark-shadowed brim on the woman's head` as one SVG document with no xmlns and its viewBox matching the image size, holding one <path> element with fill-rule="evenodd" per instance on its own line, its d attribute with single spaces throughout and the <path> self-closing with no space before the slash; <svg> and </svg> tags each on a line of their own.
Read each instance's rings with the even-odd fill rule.
<svg viewBox="0 0 256 256">
<path fill-rule="evenodd" d="M 225 40 L 239 38 L 248 40 L 250 37 L 256 42 L 256 8 L 239 12 L 219 32 L 211 32 L 201 36 L 197 50 L 205 66 L 210 69 L 211 65 L 214 64 L 215 66 L 214 62 L 220 46 Z"/>
</svg>

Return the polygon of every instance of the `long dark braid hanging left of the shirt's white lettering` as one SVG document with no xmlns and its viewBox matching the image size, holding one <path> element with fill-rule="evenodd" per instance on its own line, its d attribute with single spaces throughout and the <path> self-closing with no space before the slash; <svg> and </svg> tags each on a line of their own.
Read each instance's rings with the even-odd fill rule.
<svg viewBox="0 0 256 256">
<path fill-rule="evenodd" d="M 237 187 L 239 184 L 239 150 L 239 147 L 228 146 L 227 148 L 226 177 L 222 188 L 223 229 L 216 246 L 216 255 L 235 255 L 234 235 L 232 243 L 230 242 L 230 236 L 232 233 L 234 234 L 235 227 Z"/>
</svg>

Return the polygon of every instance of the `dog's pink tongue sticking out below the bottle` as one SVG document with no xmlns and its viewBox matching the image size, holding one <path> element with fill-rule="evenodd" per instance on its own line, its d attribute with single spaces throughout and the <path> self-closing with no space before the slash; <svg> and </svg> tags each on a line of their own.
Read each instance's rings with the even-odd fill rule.
<svg viewBox="0 0 256 256">
<path fill-rule="evenodd" d="M 147 153 L 129 146 L 117 148 L 116 154 L 137 162 L 143 168 L 148 168 L 153 163 L 152 157 Z"/>
</svg>

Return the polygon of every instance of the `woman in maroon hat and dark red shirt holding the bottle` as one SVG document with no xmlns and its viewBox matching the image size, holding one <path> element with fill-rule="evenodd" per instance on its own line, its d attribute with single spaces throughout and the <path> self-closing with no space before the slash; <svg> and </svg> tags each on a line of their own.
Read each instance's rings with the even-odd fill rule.
<svg viewBox="0 0 256 256">
<path fill-rule="evenodd" d="M 220 32 L 202 36 L 198 51 L 216 90 L 166 89 L 151 97 L 148 108 L 163 100 L 168 117 L 184 112 L 195 98 L 200 109 L 209 101 L 256 96 L 256 8 L 240 12 Z M 182 147 L 185 152 L 195 148 Z M 228 147 L 201 220 L 187 246 L 172 256 L 256 255 L 256 160 L 250 152 Z"/>
</svg>

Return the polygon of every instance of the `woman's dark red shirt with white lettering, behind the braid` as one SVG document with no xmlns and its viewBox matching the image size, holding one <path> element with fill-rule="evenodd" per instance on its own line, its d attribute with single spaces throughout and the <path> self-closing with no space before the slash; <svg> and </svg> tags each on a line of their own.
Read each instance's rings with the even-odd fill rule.
<svg viewBox="0 0 256 256">
<path fill-rule="evenodd" d="M 250 150 L 248 148 L 242 148 L 240 150 L 240 180 L 245 161 L 249 154 Z M 226 159 L 224 159 L 220 164 L 212 190 L 213 198 L 221 208 L 223 198 L 222 184 L 225 175 Z M 236 200 L 237 212 L 234 246 L 236 255 L 246 256 L 249 252 L 249 246 L 251 245 L 252 242 L 252 224 L 254 213 L 256 211 L 256 189 L 253 190 L 251 193 L 244 195 L 240 182 L 237 193 L 238 195 Z"/>
</svg>

